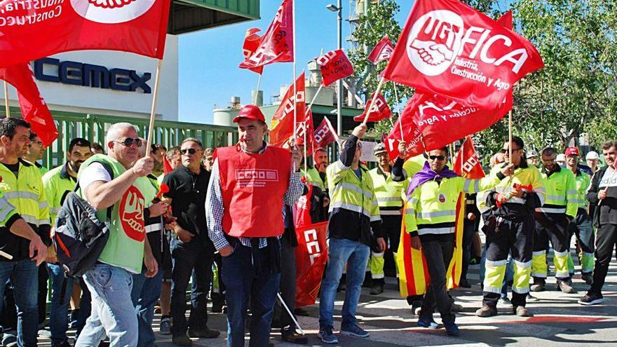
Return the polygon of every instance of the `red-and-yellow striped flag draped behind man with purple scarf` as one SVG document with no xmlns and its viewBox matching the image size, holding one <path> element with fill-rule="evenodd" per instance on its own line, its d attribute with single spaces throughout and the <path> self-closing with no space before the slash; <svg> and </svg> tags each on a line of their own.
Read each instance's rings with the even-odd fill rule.
<svg viewBox="0 0 617 347">
<path fill-rule="evenodd" d="M 448 289 L 459 286 L 461 279 L 461 268 L 463 264 L 463 219 L 465 218 L 465 193 L 459 193 L 459 200 L 456 202 L 456 227 L 454 238 L 456 245 L 452 261 L 448 266 L 446 284 Z M 411 236 L 405 231 L 405 219 L 400 226 L 400 243 L 396 253 L 396 265 L 400 270 L 399 290 L 401 297 L 412 295 L 422 295 L 428 287 L 428 267 L 422 250 L 412 248 Z"/>
</svg>

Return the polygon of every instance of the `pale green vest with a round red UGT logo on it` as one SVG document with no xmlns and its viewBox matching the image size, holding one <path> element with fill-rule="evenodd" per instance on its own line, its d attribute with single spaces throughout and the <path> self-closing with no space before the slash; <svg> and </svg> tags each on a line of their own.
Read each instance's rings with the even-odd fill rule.
<svg viewBox="0 0 617 347">
<path fill-rule="evenodd" d="M 95 154 L 81 164 L 77 175 L 78 179 L 83 171 L 88 168 L 88 165 L 93 162 L 107 163 L 114 172 L 114 178 L 126 171 L 124 166 L 114 158 L 104 154 Z M 154 198 L 151 191 L 154 191 L 154 187 L 149 180 L 146 177 L 140 177 L 114 205 L 113 210 L 111 210 L 111 221 L 109 221 L 109 240 L 107 240 L 107 245 L 105 245 L 99 261 L 124 268 L 131 273 L 141 273 L 144 261 L 144 238 L 146 237 L 144 207 Z M 147 200 L 148 197 L 146 196 L 151 197 Z M 97 217 L 100 220 L 106 220 L 107 209 L 98 210 Z"/>
</svg>

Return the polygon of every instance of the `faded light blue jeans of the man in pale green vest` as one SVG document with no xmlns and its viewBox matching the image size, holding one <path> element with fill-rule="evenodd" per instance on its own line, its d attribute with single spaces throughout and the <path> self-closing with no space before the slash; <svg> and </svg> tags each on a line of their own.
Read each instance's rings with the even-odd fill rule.
<svg viewBox="0 0 617 347">
<path fill-rule="evenodd" d="M 137 346 L 137 315 L 130 301 L 131 274 L 117 266 L 97 263 L 83 279 L 92 297 L 92 311 L 75 346 L 98 346 L 106 334 L 111 346 Z"/>
</svg>

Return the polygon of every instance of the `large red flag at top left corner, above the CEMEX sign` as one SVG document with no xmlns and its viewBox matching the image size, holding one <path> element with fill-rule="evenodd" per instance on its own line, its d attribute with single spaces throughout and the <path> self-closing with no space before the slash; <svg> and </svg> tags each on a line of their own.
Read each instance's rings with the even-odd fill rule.
<svg viewBox="0 0 617 347">
<path fill-rule="evenodd" d="M 0 67 L 69 50 L 123 50 L 163 58 L 169 0 L 5 0 Z"/>
</svg>

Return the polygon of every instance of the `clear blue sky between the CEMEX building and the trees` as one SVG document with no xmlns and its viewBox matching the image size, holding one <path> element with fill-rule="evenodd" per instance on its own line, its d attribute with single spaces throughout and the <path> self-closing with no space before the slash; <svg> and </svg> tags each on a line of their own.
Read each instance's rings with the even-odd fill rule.
<svg viewBox="0 0 617 347">
<path fill-rule="evenodd" d="M 337 15 L 325 8 L 336 0 L 296 0 L 297 73 L 318 56 L 320 50 L 337 47 Z M 242 62 L 245 32 L 251 27 L 266 31 L 279 0 L 261 0 L 261 20 L 203 30 L 179 36 L 179 121 L 212 123 L 212 109 L 226 107 L 232 96 L 243 104 L 250 102 L 250 91 L 257 87 L 259 75 L 238 68 Z M 343 38 L 349 35 L 349 1 L 343 0 Z M 396 19 L 405 24 L 412 0 L 400 0 Z M 343 47 L 348 45 L 344 41 Z M 264 103 L 278 95 L 280 86 L 292 82 L 292 63 L 267 65 L 262 77 Z"/>
</svg>

